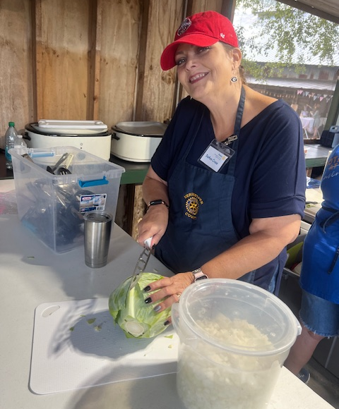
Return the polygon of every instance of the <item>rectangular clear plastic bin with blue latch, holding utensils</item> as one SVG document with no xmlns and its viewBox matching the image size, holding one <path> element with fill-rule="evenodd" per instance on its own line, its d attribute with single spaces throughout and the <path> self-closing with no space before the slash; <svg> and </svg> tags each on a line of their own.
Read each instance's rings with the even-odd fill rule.
<svg viewBox="0 0 339 409">
<path fill-rule="evenodd" d="M 124 168 L 76 147 L 13 148 L 13 175 L 18 216 L 42 243 L 55 252 L 83 245 L 83 215 L 117 209 Z M 70 174 L 53 174 L 63 154 L 71 157 Z M 23 156 L 25 155 L 25 156 Z M 62 164 L 61 164 L 62 166 Z"/>
</svg>

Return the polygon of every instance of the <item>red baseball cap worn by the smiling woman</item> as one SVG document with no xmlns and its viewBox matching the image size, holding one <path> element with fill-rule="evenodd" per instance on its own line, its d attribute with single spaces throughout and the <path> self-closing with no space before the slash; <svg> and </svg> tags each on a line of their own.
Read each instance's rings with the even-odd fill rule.
<svg viewBox="0 0 339 409">
<path fill-rule="evenodd" d="M 181 43 L 208 47 L 221 41 L 238 47 L 238 39 L 230 20 L 216 11 L 203 11 L 186 17 L 177 32 L 174 42 L 162 51 L 160 65 L 164 71 L 173 68 L 175 51 Z"/>
</svg>

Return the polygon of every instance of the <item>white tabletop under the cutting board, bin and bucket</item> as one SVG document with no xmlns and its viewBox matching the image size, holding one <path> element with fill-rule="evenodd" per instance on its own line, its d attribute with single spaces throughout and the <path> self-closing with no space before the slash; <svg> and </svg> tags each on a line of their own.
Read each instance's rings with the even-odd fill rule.
<svg viewBox="0 0 339 409">
<path fill-rule="evenodd" d="M 7 181 L 6 181 L 7 182 Z M 8 183 L 8 182 L 7 182 Z M 0 192 L 8 190 L 0 181 Z M 16 214 L 0 215 L 0 407 L 6 409 L 184 409 L 175 374 L 49 395 L 29 388 L 34 311 L 41 303 L 105 298 L 131 274 L 141 247 L 118 226 L 101 269 L 85 266 L 83 248 L 57 255 Z M 34 258 L 32 258 L 34 257 Z M 155 257 L 150 271 L 169 274 Z M 283 367 L 269 409 L 333 408 Z"/>
</svg>

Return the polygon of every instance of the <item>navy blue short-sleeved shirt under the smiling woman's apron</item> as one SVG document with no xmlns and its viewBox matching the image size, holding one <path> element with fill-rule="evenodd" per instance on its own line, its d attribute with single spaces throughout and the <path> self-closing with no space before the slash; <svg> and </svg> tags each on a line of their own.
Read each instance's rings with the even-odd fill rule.
<svg viewBox="0 0 339 409">
<path fill-rule="evenodd" d="M 164 181 L 195 135 L 186 160 L 203 167 L 198 159 L 215 138 L 210 111 L 186 97 L 179 103 L 151 160 L 153 170 Z M 242 127 L 238 140 L 232 221 L 239 239 L 249 235 L 252 219 L 288 214 L 303 216 L 306 166 L 302 126 L 296 112 L 283 100 L 273 102 Z M 227 173 L 227 164 L 220 172 Z M 277 264 L 277 260 L 273 264 Z M 285 264 L 285 252 L 280 255 L 280 264 Z M 267 265 L 269 268 L 272 265 Z M 262 269 L 263 275 L 265 270 Z"/>
</svg>

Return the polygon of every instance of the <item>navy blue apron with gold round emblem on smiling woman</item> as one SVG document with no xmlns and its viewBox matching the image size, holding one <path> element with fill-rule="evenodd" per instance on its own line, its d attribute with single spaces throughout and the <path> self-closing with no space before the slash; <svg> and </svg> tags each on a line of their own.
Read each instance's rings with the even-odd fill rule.
<svg viewBox="0 0 339 409">
<path fill-rule="evenodd" d="M 242 88 L 234 126 L 238 139 L 244 102 Z M 238 139 L 232 145 L 235 152 L 227 174 L 202 169 L 186 161 L 199 128 L 167 181 L 169 222 L 155 246 L 155 256 L 174 273 L 197 269 L 239 241 L 231 212 Z M 253 283 L 254 274 L 251 271 L 241 279 Z"/>
</svg>

